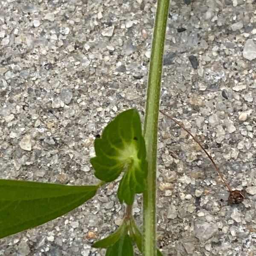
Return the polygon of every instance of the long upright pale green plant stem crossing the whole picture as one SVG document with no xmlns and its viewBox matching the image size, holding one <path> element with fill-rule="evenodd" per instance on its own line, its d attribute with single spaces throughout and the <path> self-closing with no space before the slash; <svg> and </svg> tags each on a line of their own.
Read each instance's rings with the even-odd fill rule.
<svg viewBox="0 0 256 256">
<path fill-rule="evenodd" d="M 157 12 L 151 47 L 145 108 L 144 138 L 148 160 L 148 177 L 143 193 L 143 255 L 155 256 L 156 251 L 156 161 L 158 111 L 163 65 L 163 48 L 169 0 L 157 1 Z"/>
</svg>

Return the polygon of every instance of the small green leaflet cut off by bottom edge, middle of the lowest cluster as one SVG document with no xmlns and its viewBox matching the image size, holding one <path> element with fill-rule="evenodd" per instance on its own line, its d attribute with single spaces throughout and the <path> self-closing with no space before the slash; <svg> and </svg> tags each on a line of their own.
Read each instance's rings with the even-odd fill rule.
<svg viewBox="0 0 256 256">
<path fill-rule="evenodd" d="M 108 247 L 106 256 L 133 256 L 133 246 L 128 234 L 123 234 L 111 247 Z"/>
</svg>

